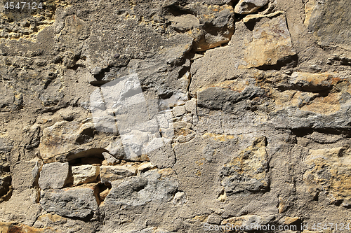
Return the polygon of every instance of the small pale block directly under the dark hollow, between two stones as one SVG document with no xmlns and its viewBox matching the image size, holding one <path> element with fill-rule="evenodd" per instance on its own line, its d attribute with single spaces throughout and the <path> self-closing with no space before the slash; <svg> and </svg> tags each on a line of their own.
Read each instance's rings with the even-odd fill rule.
<svg viewBox="0 0 351 233">
<path fill-rule="evenodd" d="M 73 185 L 96 181 L 96 178 L 99 175 L 99 168 L 99 166 L 89 164 L 72 166 Z"/>
</svg>

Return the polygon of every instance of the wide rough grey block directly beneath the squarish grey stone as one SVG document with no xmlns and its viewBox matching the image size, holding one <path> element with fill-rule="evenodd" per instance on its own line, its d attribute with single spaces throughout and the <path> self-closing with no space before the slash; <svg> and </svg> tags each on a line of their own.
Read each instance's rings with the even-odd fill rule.
<svg viewBox="0 0 351 233">
<path fill-rule="evenodd" d="M 40 205 L 45 211 L 68 218 L 86 218 L 98 210 L 91 188 L 67 188 L 51 192 L 41 190 Z"/>
</svg>

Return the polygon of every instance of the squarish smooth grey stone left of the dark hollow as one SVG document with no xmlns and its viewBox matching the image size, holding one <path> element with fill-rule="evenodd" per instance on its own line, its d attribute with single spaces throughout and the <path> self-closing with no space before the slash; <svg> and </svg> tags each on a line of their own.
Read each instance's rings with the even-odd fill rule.
<svg viewBox="0 0 351 233">
<path fill-rule="evenodd" d="M 39 186 L 42 190 L 48 188 L 63 188 L 67 183 L 69 174 L 68 162 L 53 162 L 44 164 L 40 171 Z"/>
</svg>

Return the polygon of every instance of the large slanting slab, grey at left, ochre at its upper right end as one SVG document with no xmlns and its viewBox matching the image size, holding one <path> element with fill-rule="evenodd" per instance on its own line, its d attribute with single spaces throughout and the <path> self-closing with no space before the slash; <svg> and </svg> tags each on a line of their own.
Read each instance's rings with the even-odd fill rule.
<svg viewBox="0 0 351 233">
<path fill-rule="evenodd" d="M 190 69 L 192 94 L 248 73 L 246 68 L 283 66 L 284 59 L 296 55 L 284 15 L 263 18 L 251 30 L 244 22 L 236 25 L 237 32 L 228 46 L 208 50 L 204 57 L 194 60 Z"/>
</svg>

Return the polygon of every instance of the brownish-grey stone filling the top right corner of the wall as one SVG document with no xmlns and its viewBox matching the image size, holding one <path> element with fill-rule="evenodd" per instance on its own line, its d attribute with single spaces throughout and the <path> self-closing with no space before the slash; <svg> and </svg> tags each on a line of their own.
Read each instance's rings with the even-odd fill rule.
<svg viewBox="0 0 351 233">
<path fill-rule="evenodd" d="M 350 1 L 315 1 L 305 3 L 305 25 L 317 38 L 319 45 L 351 50 Z"/>
</svg>

